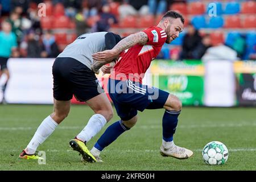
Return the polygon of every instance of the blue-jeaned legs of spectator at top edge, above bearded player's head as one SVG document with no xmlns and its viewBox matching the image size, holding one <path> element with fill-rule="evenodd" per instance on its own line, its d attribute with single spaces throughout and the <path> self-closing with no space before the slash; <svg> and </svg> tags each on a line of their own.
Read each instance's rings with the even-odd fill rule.
<svg viewBox="0 0 256 182">
<path fill-rule="evenodd" d="M 152 15 L 161 15 L 167 11 L 166 0 L 148 0 L 149 13 Z"/>
</svg>

